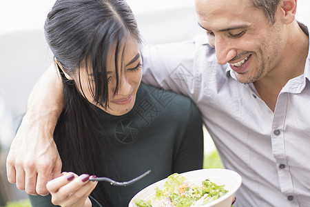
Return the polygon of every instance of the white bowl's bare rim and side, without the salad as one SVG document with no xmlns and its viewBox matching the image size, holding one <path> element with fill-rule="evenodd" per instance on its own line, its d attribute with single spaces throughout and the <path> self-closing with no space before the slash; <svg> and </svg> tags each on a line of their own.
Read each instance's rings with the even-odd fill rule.
<svg viewBox="0 0 310 207">
<path fill-rule="evenodd" d="M 209 179 L 211 182 L 214 182 L 216 185 L 225 185 L 225 190 L 228 190 L 228 192 L 219 197 L 218 199 L 209 202 L 208 204 L 205 204 L 203 207 L 230 207 L 231 202 L 234 199 L 234 194 L 240 188 L 241 186 L 241 176 L 232 170 L 227 169 L 203 169 L 203 170 L 193 170 L 189 172 L 181 173 L 183 177 L 187 181 L 191 181 L 194 184 L 201 184 L 201 181 L 205 179 Z M 139 193 L 137 193 L 130 201 L 129 207 L 136 207 L 136 204 L 134 204 L 134 199 L 151 199 L 155 195 L 155 187 L 157 186 L 159 189 L 164 188 L 166 179 L 162 179 L 161 181 L 157 181 L 156 183 L 147 186 L 143 190 L 141 190 Z M 155 206 L 153 206 L 155 207 Z"/>
</svg>

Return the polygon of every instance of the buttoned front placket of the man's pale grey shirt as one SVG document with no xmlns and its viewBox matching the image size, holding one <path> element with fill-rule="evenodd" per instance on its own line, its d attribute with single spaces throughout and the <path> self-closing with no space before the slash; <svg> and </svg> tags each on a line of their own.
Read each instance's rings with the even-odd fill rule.
<svg viewBox="0 0 310 207">
<path fill-rule="evenodd" d="M 293 181 L 285 155 L 285 117 L 288 95 L 289 93 L 282 92 L 278 96 L 271 127 L 271 144 L 273 156 L 276 159 L 281 192 L 287 199 L 287 206 L 297 206 L 294 201 Z"/>
</svg>

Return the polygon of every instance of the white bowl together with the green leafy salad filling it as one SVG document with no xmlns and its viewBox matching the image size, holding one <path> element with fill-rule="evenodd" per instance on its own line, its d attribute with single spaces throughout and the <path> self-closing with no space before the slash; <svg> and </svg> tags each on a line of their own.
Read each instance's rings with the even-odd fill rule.
<svg viewBox="0 0 310 207">
<path fill-rule="evenodd" d="M 174 173 L 141 190 L 129 206 L 228 207 L 240 185 L 240 175 L 232 170 L 204 169 Z"/>
</svg>

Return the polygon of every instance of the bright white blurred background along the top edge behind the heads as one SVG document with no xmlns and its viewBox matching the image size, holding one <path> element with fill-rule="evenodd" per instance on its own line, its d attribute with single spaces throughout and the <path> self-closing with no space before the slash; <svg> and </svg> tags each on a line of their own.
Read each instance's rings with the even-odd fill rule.
<svg viewBox="0 0 310 207">
<path fill-rule="evenodd" d="M 55 0 L 1 0 L 0 35 L 42 28 Z M 169 8 L 194 7 L 193 0 L 127 0 L 133 12 L 152 12 Z M 310 1 L 298 0 L 296 19 L 310 24 Z"/>
</svg>

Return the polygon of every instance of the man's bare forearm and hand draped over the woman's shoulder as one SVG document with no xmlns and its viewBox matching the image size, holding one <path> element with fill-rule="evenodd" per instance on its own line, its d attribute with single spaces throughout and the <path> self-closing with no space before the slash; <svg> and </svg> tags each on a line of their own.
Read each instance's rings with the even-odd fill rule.
<svg viewBox="0 0 310 207">
<path fill-rule="evenodd" d="M 34 85 L 27 112 L 8 153 L 8 181 L 31 195 L 47 195 L 46 183 L 61 172 L 53 133 L 63 110 L 63 86 L 54 64 Z"/>
</svg>

